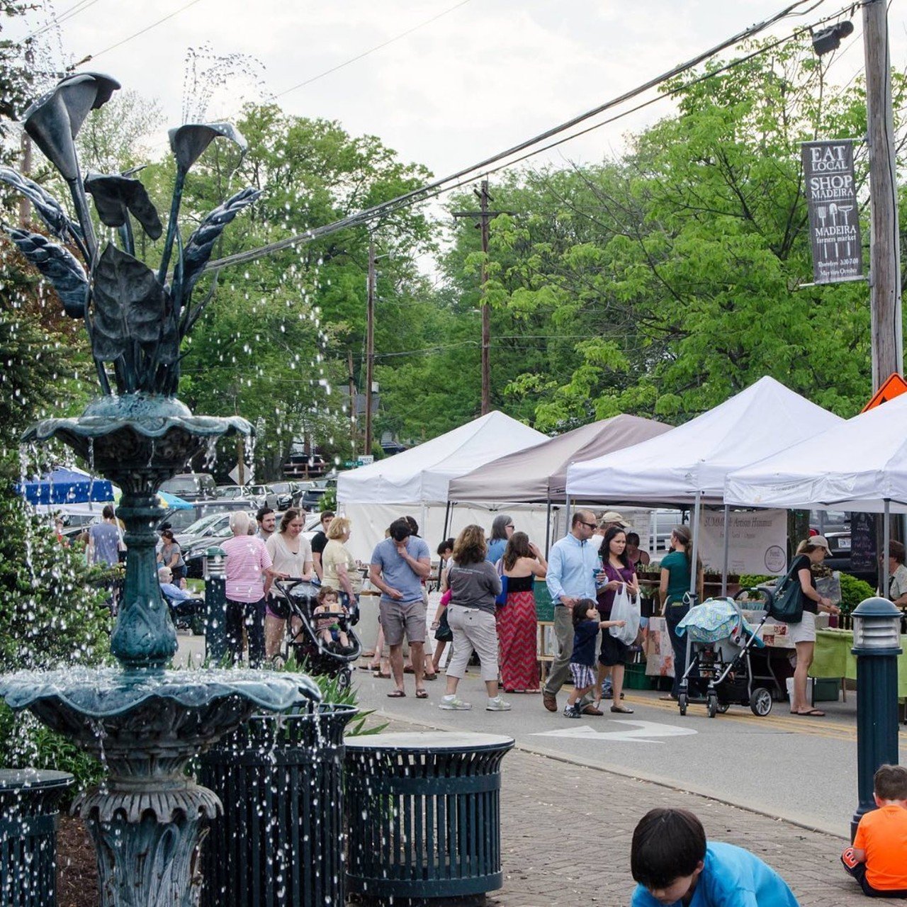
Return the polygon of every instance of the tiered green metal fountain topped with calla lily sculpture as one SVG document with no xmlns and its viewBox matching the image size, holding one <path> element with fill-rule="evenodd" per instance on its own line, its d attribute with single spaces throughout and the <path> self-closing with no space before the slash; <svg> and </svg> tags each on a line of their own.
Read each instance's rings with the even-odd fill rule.
<svg viewBox="0 0 907 907">
<path fill-rule="evenodd" d="M 53 283 L 66 314 L 84 319 L 91 340 L 102 396 L 77 418 L 33 425 L 24 440 L 60 438 L 122 487 L 118 513 L 129 553 L 111 638 L 121 667 L 20 672 L 0 678 L 0 696 L 71 736 L 109 770 L 102 785 L 73 805 L 97 849 L 102 907 L 190 907 L 199 899 L 202 823 L 220 804 L 185 766 L 253 711 L 286 711 L 319 694 L 302 675 L 167 668 L 177 640 L 157 582 L 157 490 L 212 439 L 251 433 L 245 419 L 192 415 L 176 398 L 180 342 L 207 301 L 193 304 L 192 292 L 215 240 L 259 193 L 245 189 L 232 196 L 183 244 L 178 215 L 190 167 L 217 138 L 242 148 L 245 141 L 228 123 L 172 130 L 176 184 L 155 273 L 135 257 L 132 219 L 151 239 L 163 232 L 141 181 L 129 175 L 83 178 L 75 150 L 85 117 L 119 87 L 99 73 L 73 75 L 25 112 L 25 131 L 69 187 L 75 221 L 32 180 L 8 168 L 0 168 L 0 180 L 32 202 L 59 240 L 4 225 Z M 100 249 L 86 193 L 119 245 L 110 241 Z M 67 245 L 81 255 L 84 268 Z"/>
</svg>

